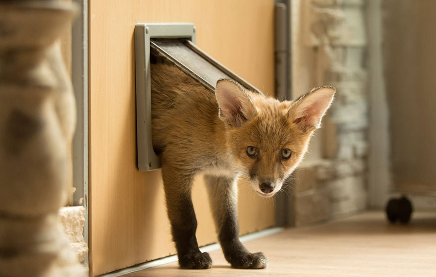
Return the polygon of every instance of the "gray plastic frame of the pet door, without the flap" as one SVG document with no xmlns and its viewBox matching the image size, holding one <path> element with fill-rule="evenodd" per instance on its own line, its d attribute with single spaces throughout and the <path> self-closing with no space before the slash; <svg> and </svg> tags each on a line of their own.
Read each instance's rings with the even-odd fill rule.
<svg viewBox="0 0 436 277">
<path fill-rule="evenodd" d="M 192 23 L 138 23 L 135 27 L 136 145 L 140 171 L 161 167 L 153 150 L 150 85 L 150 39 L 187 38 L 196 43 Z"/>
</svg>

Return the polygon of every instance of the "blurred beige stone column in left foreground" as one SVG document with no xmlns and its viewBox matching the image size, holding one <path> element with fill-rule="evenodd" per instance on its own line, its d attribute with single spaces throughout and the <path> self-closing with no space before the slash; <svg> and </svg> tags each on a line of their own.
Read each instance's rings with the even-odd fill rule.
<svg viewBox="0 0 436 277">
<path fill-rule="evenodd" d="M 0 276 L 80 277 L 58 220 L 71 180 L 75 103 L 59 35 L 76 12 L 0 1 Z"/>
</svg>

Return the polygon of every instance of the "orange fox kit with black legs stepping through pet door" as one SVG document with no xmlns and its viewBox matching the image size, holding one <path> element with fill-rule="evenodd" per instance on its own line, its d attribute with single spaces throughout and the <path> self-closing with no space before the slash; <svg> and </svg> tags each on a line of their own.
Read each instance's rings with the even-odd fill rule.
<svg viewBox="0 0 436 277">
<path fill-rule="evenodd" d="M 248 180 L 262 197 L 279 191 L 303 159 L 335 89 L 279 102 L 228 79 L 218 80 L 214 95 L 172 65 L 152 64 L 151 76 L 153 146 L 180 267 L 212 266 L 198 248 L 191 201 L 194 175 L 202 173 L 225 259 L 234 268 L 265 268 L 265 256 L 239 241 L 236 181 Z"/>
</svg>

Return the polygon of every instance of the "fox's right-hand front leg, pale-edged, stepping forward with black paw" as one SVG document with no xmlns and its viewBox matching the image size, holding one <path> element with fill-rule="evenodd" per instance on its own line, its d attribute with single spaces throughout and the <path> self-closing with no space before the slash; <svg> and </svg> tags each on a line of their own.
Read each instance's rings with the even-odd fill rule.
<svg viewBox="0 0 436 277">
<path fill-rule="evenodd" d="M 239 240 L 237 184 L 235 178 L 206 175 L 209 201 L 224 257 L 234 268 L 263 269 L 267 258 L 250 253 Z"/>
</svg>

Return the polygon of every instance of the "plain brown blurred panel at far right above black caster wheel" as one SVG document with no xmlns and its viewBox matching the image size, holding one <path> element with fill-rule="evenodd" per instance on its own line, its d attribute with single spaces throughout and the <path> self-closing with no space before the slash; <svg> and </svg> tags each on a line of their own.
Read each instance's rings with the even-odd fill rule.
<svg viewBox="0 0 436 277">
<path fill-rule="evenodd" d="M 382 40 L 390 113 L 392 185 L 436 195 L 436 1 L 383 0 Z M 435 197 L 412 197 L 435 208 Z"/>
</svg>

